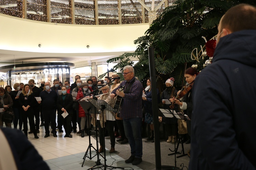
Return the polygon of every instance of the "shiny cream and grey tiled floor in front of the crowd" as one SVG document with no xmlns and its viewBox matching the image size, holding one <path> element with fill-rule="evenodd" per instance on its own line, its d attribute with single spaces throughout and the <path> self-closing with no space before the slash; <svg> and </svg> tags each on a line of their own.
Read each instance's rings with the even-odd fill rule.
<svg viewBox="0 0 256 170">
<path fill-rule="evenodd" d="M 63 129 L 64 130 L 64 129 Z M 58 130 L 57 130 L 58 131 Z M 91 148 L 91 157 L 88 153 L 83 164 L 83 157 L 89 146 L 89 137 L 85 136 L 81 138 L 81 135 L 71 133 L 73 138 L 64 138 L 65 132 L 58 133 L 58 137 L 53 137 L 50 134 L 49 137 L 44 138 L 45 130 L 44 126 L 40 127 L 39 139 L 35 139 L 33 134 L 28 134 L 29 141 L 38 150 L 39 154 L 43 157 L 45 162 L 51 168 L 51 170 L 85 170 L 96 165 L 97 154 L 96 151 Z M 96 146 L 96 140 L 91 137 L 91 143 L 94 148 Z M 102 153 L 104 156 L 104 153 Z M 103 157 L 99 156 L 100 163 L 104 166 Z M 106 151 L 106 165 L 114 167 L 123 167 L 124 169 L 140 169 L 132 164 L 126 164 L 124 159 L 115 153 L 110 154 Z M 95 166 L 95 169 L 104 169 L 102 166 Z M 107 167 L 106 169 L 112 169 Z"/>
</svg>

